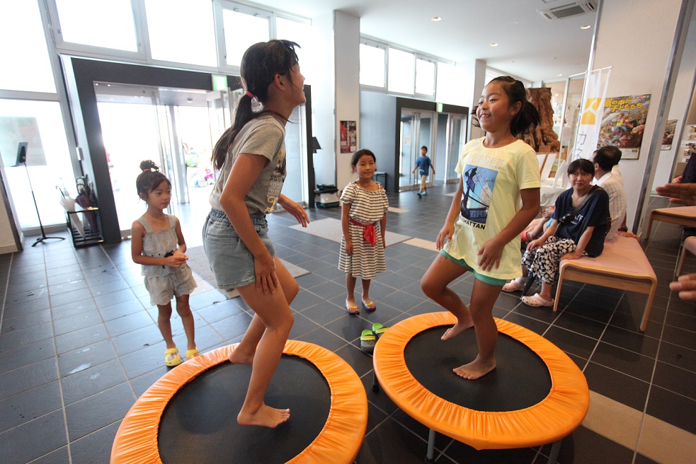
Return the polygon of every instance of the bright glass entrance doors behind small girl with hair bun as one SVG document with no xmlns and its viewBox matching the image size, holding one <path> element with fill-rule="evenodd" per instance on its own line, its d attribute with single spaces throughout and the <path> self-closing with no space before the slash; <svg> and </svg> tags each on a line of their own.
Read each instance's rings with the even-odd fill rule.
<svg viewBox="0 0 696 464">
<path fill-rule="evenodd" d="M 144 212 L 135 178 L 140 162 L 151 159 L 172 183 L 169 212 L 181 221 L 187 244 L 200 244 L 220 124 L 207 93 L 118 83 L 95 83 L 95 90 L 121 235 L 130 236 L 132 221 Z"/>
</svg>

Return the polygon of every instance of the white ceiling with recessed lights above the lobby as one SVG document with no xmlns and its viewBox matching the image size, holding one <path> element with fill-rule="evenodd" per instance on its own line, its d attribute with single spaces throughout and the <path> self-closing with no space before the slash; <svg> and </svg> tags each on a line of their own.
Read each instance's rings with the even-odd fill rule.
<svg viewBox="0 0 696 464">
<path fill-rule="evenodd" d="M 549 21 L 537 10 L 574 0 L 256 0 L 306 18 L 333 10 L 360 18 L 360 34 L 451 62 L 484 59 L 529 81 L 587 69 L 596 13 Z M 430 18 L 440 16 L 442 21 Z M 592 25 L 581 30 L 581 25 Z M 496 42 L 498 47 L 491 47 Z M 300 44 L 302 45 L 302 44 Z M 561 76 L 558 76 L 561 74 Z"/>
</svg>

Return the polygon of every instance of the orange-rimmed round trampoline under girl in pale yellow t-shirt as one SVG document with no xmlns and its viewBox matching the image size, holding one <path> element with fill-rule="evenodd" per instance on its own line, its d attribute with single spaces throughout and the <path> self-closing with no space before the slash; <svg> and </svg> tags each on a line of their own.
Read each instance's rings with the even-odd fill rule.
<svg viewBox="0 0 696 464">
<path fill-rule="evenodd" d="M 440 340 L 443 326 L 455 322 L 449 312 L 416 315 L 389 328 L 375 347 L 375 376 L 384 391 L 430 428 L 426 460 L 438 431 L 477 450 L 554 443 L 549 463 L 555 462 L 561 439 L 587 414 L 582 371 L 544 337 L 496 319 L 496 369 L 476 381 L 459 378 L 452 369 L 473 359 L 477 348 L 473 330 Z"/>
</svg>

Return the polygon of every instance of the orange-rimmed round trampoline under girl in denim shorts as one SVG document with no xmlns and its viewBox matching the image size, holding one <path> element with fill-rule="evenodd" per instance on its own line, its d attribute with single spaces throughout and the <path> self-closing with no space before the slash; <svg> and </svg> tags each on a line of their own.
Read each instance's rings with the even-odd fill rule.
<svg viewBox="0 0 696 464">
<path fill-rule="evenodd" d="M 118 429 L 110 462 L 355 460 L 367 427 L 367 395 L 346 361 L 315 344 L 288 340 L 266 402 L 290 407 L 290 420 L 275 429 L 241 427 L 236 413 L 251 367 L 228 361 L 235 346 L 186 361 L 143 393 Z"/>
</svg>

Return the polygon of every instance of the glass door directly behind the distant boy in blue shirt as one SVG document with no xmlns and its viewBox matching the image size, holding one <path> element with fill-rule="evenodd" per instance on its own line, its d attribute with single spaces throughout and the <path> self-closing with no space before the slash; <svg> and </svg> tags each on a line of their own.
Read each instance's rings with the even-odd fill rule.
<svg viewBox="0 0 696 464">
<path fill-rule="evenodd" d="M 428 155 L 433 151 L 435 117 L 433 112 L 401 110 L 399 192 L 412 190 L 420 185 L 421 177 L 418 175 L 418 170 L 415 173 L 412 171 L 413 167 L 416 166 L 416 158 L 421 156 L 421 146 L 428 147 Z M 435 162 L 432 156 L 430 159 L 433 163 Z M 428 185 L 433 185 L 432 175 L 430 175 Z"/>
</svg>

